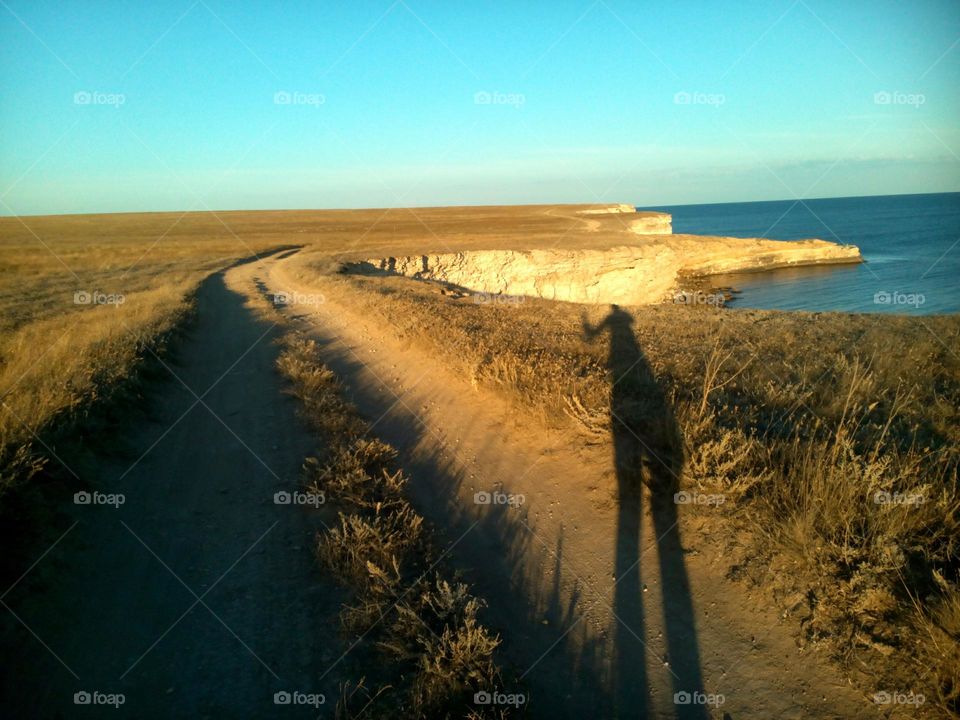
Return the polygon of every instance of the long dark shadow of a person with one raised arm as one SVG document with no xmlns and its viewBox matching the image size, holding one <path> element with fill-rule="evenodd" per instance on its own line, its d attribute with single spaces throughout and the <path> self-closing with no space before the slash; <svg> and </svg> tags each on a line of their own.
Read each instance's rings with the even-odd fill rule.
<svg viewBox="0 0 960 720">
<path fill-rule="evenodd" d="M 630 313 L 611 305 L 596 326 L 584 318 L 583 332 L 588 340 L 610 335 L 607 368 L 618 495 L 612 668 L 617 716 L 642 718 L 650 712 L 646 667 L 652 659 L 670 673 L 676 716 L 706 718 L 706 706 L 697 702 L 697 693 L 703 697 L 700 652 L 674 498 L 683 470 L 680 431 L 637 342 Z M 640 566 L 644 486 L 659 560 L 666 658 L 645 635 Z"/>
</svg>

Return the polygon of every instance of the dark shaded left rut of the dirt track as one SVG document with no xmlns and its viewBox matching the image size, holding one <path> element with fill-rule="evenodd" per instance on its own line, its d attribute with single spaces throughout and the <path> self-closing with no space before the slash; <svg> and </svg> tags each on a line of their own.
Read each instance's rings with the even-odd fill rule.
<svg viewBox="0 0 960 720">
<path fill-rule="evenodd" d="M 283 690 L 325 693 L 332 711 L 338 671 L 318 678 L 342 652 L 341 598 L 313 560 L 320 516 L 273 502 L 314 444 L 273 368 L 277 329 L 231 289 L 242 272 L 204 284 L 171 365 L 182 383 L 156 388 L 130 457 L 89 478 L 126 502 L 65 498 L 76 524 L 4 595 L 22 623 L 0 608 L 0 715 L 317 716 L 276 707 Z M 125 704 L 74 704 L 95 690 Z"/>
</svg>

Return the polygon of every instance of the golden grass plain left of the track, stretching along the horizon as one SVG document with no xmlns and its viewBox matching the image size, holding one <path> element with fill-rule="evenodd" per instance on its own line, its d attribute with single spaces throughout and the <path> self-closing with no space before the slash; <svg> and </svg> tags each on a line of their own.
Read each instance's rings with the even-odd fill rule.
<svg viewBox="0 0 960 720">
<path fill-rule="evenodd" d="M 134 378 L 190 314 L 200 280 L 291 245 L 371 253 L 611 244 L 617 216 L 589 206 L 129 213 L 0 218 L 0 495 L 54 452 L 54 426 L 83 416 Z M 621 240 L 622 242 L 622 240 Z M 76 303 L 75 293 L 122 296 Z M 47 445 L 47 447 L 44 447 Z"/>
</svg>

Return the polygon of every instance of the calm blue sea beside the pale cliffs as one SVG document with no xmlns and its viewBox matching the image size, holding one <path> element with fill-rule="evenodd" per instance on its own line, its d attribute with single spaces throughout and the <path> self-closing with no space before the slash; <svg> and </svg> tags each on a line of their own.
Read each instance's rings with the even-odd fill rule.
<svg viewBox="0 0 960 720">
<path fill-rule="evenodd" d="M 714 278 L 734 307 L 910 314 L 960 312 L 960 193 L 643 208 L 675 233 L 820 238 L 857 245 L 866 263 Z"/>
</svg>

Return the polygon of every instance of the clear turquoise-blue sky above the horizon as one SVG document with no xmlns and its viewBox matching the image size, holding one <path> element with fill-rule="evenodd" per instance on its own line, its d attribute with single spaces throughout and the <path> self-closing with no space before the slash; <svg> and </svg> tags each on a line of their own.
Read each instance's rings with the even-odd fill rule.
<svg viewBox="0 0 960 720">
<path fill-rule="evenodd" d="M 0 214 L 960 190 L 960 3 L 0 0 Z"/>
</svg>

